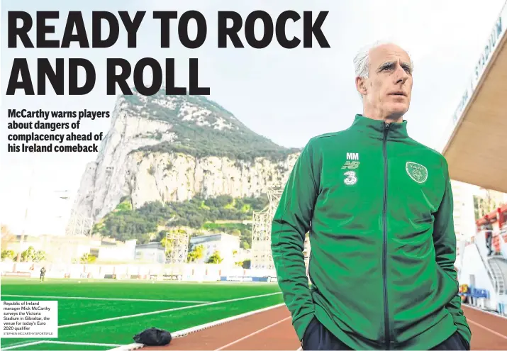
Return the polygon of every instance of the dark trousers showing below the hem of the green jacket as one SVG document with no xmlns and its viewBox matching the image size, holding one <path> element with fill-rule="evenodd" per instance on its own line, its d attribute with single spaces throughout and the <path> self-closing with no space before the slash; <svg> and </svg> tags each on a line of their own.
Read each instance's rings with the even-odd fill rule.
<svg viewBox="0 0 507 351">
<path fill-rule="evenodd" d="M 313 320 L 306 328 L 301 342 L 303 350 L 354 350 L 345 345 L 344 342 L 338 340 L 328 328 L 325 328 L 317 318 Z M 454 333 L 439 345 L 433 347 L 431 350 L 470 350 L 468 343 L 462 338 L 459 333 Z"/>
</svg>

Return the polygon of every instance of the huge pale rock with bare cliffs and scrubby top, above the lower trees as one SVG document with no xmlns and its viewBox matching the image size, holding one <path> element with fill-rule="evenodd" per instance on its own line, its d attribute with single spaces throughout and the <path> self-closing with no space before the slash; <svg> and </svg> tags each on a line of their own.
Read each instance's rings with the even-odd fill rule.
<svg viewBox="0 0 507 351">
<path fill-rule="evenodd" d="M 87 165 L 74 213 L 98 221 L 130 196 L 183 201 L 196 194 L 258 196 L 284 183 L 299 150 L 253 133 L 195 96 L 121 96 L 96 162 Z"/>
</svg>

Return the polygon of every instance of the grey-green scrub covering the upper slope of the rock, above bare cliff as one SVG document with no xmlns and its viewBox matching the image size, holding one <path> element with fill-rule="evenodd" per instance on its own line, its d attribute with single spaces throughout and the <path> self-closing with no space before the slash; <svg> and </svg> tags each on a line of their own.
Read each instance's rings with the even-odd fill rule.
<svg viewBox="0 0 507 351">
<path fill-rule="evenodd" d="M 204 96 L 165 96 L 161 90 L 143 100 L 125 96 L 129 114 L 169 122 L 177 135 L 172 142 L 139 147 L 133 152 L 183 152 L 194 157 L 229 157 L 252 161 L 266 157 L 273 162 L 299 152 L 297 148 L 277 145 L 241 123 L 232 113 Z M 170 101 L 170 102 L 168 102 Z M 150 135 L 162 139 L 162 135 Z"/>
</svg>

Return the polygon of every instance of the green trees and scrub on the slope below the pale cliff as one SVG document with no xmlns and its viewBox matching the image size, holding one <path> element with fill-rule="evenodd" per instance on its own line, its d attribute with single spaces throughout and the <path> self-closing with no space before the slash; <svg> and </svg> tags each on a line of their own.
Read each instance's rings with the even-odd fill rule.
<svg viewBox="0 0 507 351">
<path fill-rule="evenodd" d="M 130 199 L 121 203 L 94 225 L 93 232 L 116 240 L 137 239 L 138 244 L 160 241 L 170 228 L 187 227 L 199 233 L 221 232 L 240 237 L 240 247 L 250 248 L 251 225 L 242 221 L 252 219 L 252 211 L 267 206 L 267 196 L 233 199 L 229 195 L 202 199 L 199 196 L 182 202 L 160 201 L 146 203 L 133 209 Z M 165 230 L 158 230 L 159 228 Z"/>
</svg>

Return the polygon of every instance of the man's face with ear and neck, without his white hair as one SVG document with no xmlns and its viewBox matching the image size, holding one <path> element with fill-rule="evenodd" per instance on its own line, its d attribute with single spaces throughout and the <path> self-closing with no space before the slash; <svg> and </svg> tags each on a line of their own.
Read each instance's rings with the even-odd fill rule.
<svg viewBox="0 0 507 351">
<path fill-rule="evenodd" d="M 364 106 L 376 116 L 401 118 L 410 106 L 412 65 L 396 45 L 381 45 L 369 52 L 369 74 L 358 82 Z"/>
</svg>

